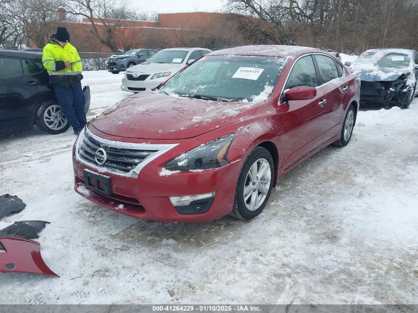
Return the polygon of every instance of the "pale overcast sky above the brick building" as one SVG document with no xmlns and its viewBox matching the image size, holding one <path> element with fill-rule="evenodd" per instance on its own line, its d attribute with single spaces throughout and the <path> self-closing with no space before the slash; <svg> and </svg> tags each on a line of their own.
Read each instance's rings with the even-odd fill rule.
<svg viewBox="0 0 418 313">
<path fill-rule="evenodd" d="M 130 0 L 141 11 L 157 11 L 159 13 L 219 11 L 223 0 Z"/>
</svg>

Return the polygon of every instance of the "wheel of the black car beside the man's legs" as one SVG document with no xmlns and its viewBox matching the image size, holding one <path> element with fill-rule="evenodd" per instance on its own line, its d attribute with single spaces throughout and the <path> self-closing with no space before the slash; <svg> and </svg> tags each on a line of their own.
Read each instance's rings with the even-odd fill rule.
<svg viewBox="0 0 418 313">
<path fill-rule="evenodd" d="M 62 134 L 70 128 L 61 107 L 55 101 L 43 103 L 36 114 L 36 126 L 47 134 Z"/>
</svg>

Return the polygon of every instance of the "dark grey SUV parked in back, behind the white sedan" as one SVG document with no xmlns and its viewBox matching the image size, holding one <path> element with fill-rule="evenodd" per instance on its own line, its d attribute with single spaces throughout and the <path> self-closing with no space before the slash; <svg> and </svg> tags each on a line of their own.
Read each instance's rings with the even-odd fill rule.
<svg viewBox="0 0 418 313">
<path fill-rule="evenodd" d="M 114 55 L 107 62 L 107 70 L 113 74 L 126 71 L 126 69 L 145 62 L 146 59 L 157 53 L 152 49 L 133 49 L 122 55 Z"/>
</svg>

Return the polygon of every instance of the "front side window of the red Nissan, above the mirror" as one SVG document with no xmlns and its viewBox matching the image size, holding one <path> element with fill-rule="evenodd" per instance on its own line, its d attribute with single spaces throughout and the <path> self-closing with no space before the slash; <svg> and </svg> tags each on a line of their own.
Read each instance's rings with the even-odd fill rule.
<svg viewBox="0 0 418 313">
<path fill-rule="evenodd" d="M 299 59 L 292 68 L 284 89 L 290 89 L 296 86 L 317 87 L 318 79 L 315 71 L 314 60 L 312 56 L 304 56 Z"/>
</svg>

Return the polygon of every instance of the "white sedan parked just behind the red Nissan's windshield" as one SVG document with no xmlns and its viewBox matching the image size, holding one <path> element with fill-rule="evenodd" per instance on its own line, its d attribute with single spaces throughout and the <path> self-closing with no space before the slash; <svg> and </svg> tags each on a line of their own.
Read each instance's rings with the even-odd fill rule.
<svg viewBox="0 0 418 313">
<path fill-rule="evenodd" d="M 205 48 L 169 48 L 146 62 L 130 67 L 122 78 L 121 89 L 140 92 L 158 87 L 187 64 L 211 52 Z"/>
</svg>

